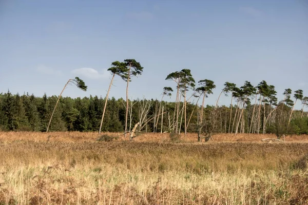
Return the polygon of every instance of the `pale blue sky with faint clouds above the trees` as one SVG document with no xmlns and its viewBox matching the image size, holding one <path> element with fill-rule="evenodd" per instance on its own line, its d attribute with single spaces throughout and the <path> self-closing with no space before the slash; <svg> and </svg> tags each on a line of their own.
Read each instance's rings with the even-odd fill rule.
<svg viewBox="0 0 308 205">
<path fill-rule="evenodd" d="M 166 76 L 184 68 L 215 82 L 209 105 L 226 81 L 265 80 L 279 100 L 286 88 L 308 96 L 308 1 L 0 0 L 0 93 L 59 95 L 78 76 L 88 90 L 68 86 L 63 96 L 105 97 L 107 69 L 128 58 L 144 67 L 130 99 L 161 99 L 163 87 L 176 89 Z M 109 97 L 125 94 L 115 77 Z"/>
</svg>

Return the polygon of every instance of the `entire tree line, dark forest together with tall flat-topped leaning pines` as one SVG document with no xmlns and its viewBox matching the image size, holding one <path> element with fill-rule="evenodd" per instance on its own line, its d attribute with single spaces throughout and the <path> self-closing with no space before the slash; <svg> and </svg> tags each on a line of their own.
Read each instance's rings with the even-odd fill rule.
<svg viewBox="0 0 308 205">
<path fill-rule="evenodd" d="M 198 140 L 215 133 L 275 133 L 307 134 L 308 97 L 302 90 L 285 89 L 283 100 L 278 101 L 275 86 L 262 80 L 253 86 L 245 81 L 241 87 L 226 82 L 215 105 L 206 105 L 206 98 L 216 88 L 214 81 L 196 82 L 189 69 L 175 71 L 166 76 L 174 82 L 162 88 L 162 98 L 129 99 L 128 86 L 133 76 L 142 74 L 143 67 L 134 59 L 114 61 L 110 86 L 105 98 L 61 97 L 68 83 L 86 91 L 87 86 L 76 77 L 70 79 L 59 96 L 42 97 L 23 94 L 0 94 L 0 129 L 28 131 L 110 131 L 130 132 L 137 126 L 144 132 L 197 132 Z M 109 99 L 115 76 L 127 82 L 126 99 Z M 164 101 L 165 96 L 176 95 L 174 102 Z M 230 96 L 229 106 L 219 106 L 219 98 Z M 301 110 L 295 110 L 300 101 Z M 108 103 L 107 103 L 108 102 Z M 59 105 L 57 105 L 59 103 Z M 57 105 L 57 106 L 56 106 Z"/>
</svg>

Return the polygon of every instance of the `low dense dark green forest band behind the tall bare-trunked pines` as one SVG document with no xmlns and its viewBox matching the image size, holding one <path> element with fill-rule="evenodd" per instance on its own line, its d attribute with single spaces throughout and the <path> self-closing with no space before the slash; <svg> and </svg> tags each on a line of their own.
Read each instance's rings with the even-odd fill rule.
<svg viewBox="0 0 308 205">
<path fill-rule="evenodd" d="M 0 94 L 0 131 L 46 132 L 48 121 L 58 96 L 36 97 L 25 93 Z M 99 131 L 106 98 L 91 96 L 83 98 L 61 97 L 57 105 L 50 131 Z M 172 120 L 176 115 L 176 103 L 157 99 L 129 100 L 128 130 L 139 122 L 141 132 L 172 132 Z M 179 103 L 183 107 L 183 102 Z M 197 107 L 197 108 L 196 108 Z M 163 115 L 158 115 L 159 109 Z M 187 132 L 198 132 L 200 106 L 186 102 Z M 124 132 L 126 101 L 123 98 L 108 99 L 102 132 Z M 182 112 L 181 112 L 182 111 Z M 215 111 L 215 114 L 213 114 Z M 182 115 L 183 109 L 180 109 Z M 308 113 L 294 110 L 290 125 L 288 117 L 292 107 L 280 102 L 275 108 L 269 104 L 249 104 L 244 108 L 239 101 L 233 106 L 204 106 L 204 133 L 275 133 L 308 134 Z M 160 113 L 162 113 L 160 111 Z M 179 114 L 179 132 L 184 132 L 183 116 Z M 240 115 L 242 117 L 240 118 Z M 181 119 L 182 117 L 182 119 Z M 260 120 L 260 121 L 259 121 Z M 264 121 L 265 120 L 265 121 Z M 215 122 L 215 123 L 213 123 Z M 213 124 L 215 124 L 213 126 Z M 288 127 L 288 129 L 287 129 Z M 287 130 L 286 130 L 287 129 Z M 279 132 L 279 133 L 278 133 Z"/>
</svg>

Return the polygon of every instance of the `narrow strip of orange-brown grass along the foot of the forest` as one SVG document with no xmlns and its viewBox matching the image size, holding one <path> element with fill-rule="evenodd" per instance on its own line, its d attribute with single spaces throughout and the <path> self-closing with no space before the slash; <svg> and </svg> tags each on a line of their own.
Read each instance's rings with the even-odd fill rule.
<svg viewBox="0 0 308 205">
<path fill-rule="evenodd" d="M 117 141 L 127 141 L 128 137 L 124 138 L 123 133 L 109 133 L 110 136 L 118 137 Z M 29 140 L 29 141 L 63 141 L 63 142 L 80 142 L 80 141 L 96 141 L 99 137 L 97 132 L 0 132 L 0 142 Z M 262 142 L 264 138 L 277 138 L 274 134 L 217 134 L 213 136 L 214 142 Z M 169 133 L 141 133 L 138 137 L 133 138 L 133 141 L 145 142 L 169 142 Z M 182 142 L 197 142 L 196 133 L 181 134 Z M 293 135 L 286 136 L 287 142 L 308 142 L 308 135 Z M 209 141 L 213 142 L 213 141 Z"/>
</svg>

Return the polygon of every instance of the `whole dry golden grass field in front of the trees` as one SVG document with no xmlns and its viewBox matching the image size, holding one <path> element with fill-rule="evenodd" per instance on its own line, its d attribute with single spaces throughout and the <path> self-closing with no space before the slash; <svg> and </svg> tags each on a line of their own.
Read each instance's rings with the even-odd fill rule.
<svg viewBox="0 0 308 205">
<path fill-rule="evenodd" d="M 0 204 L 308 204 L 308 136 L 98 137 L 0 132 Z"/>
</svg>

